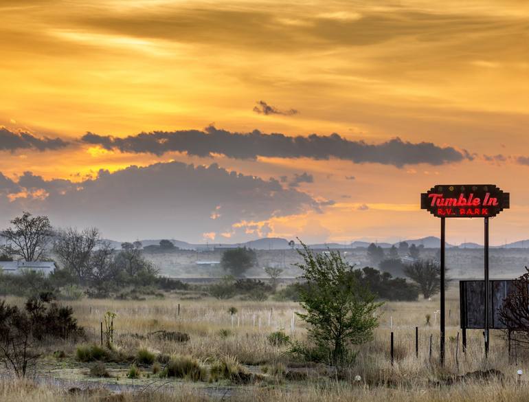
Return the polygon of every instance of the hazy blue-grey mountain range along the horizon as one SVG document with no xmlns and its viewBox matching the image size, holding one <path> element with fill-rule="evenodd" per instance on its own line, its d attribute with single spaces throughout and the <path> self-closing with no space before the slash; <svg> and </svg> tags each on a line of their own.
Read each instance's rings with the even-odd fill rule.
<svg viewBox="0 0 529 402">
<path fill-rule="evenodd" d="M 161 239 L 146 239 L 142 240 L 142 245 L 144 247 L 148 245 L 158 245 Z M 259 238 L 257 240 L 247 241 L 244 243 L 200 243 L 200 244 L 194 244 L 194 243 L 188 243 L 185 241 L 179 241 L 175 239 L 169 239 L 172 241 L 172 243 L 178 247 L 179 249 L 187 249 L 187 250 L 206 250 L 206 249 L 219 249 L 219 248 L 232 248 L 232 247 L 249 247 L 251 249 L 258 249 L 258 250 L 284 250 L 284 249 L 290 249 L 289 241 L 286 240 L 286 238 L 278 238 L 278 237 L 271 237 L 271 238 Z M 119 241 L 113 241 L 108 240 L 112 247 L 115 249 L 121 248 L 121 243 Z M 440 238 L 435 236 L 428 236 L 423 238 L 416 238 L 411 240 L 405 240 L 408 245 L 416 245 L 416 247 L 423 246 L 425 248 L 438 248 L 440 243 Z M 352 241 L 351 243 L 315 243 L 315 244 L 309 244 L 308 246 L 312 249 L 349 249 L 349 248 L 363 248 L 368 247 L 372 242 L 368 241 Z M 379 245 L 382 248 L 390 248 L 392 245 L 395 245 L 398 247 L 398 243 L 376 243 L 376 245 Z M 295 245 L 295 247 L 300 247 L 299 244 Z M 477 244 L 477 243 L 461 243 L 460 245 L 451 245 L 447 243 L 447 247 L 459 247 L 460 249 L 477 249 L 482 248 L 483 245 Z M 521 240 L 521 241 L 515 241 L 513 243 L 507 243 L 505 245 L 499 245 L 499 246 L 491 246 L 491 248 L 507 248 L 507 249 L 527 249 L 529 248 L 529 240 Z"/>
</svg>

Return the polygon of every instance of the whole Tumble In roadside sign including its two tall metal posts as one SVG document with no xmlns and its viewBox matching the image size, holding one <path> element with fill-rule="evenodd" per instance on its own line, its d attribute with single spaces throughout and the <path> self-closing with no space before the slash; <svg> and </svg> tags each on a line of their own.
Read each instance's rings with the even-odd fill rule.
<svg viewBox="0 0 529 402">
<path fill-rule="evenodd" d="M 510 207 L 510 194 L 494 184 L 438 184 L 420 194 L 420 208 L 429 211 L 441 220 L 440 247 L 440 363 L 444 364 L 444 274 L 447 218 L 483 218 L 484 219 L 484 279 L 488 289 L 488 219 Z M 485 292 L 485 357 L 488 357 L 488 292 Z"/>
</svg>

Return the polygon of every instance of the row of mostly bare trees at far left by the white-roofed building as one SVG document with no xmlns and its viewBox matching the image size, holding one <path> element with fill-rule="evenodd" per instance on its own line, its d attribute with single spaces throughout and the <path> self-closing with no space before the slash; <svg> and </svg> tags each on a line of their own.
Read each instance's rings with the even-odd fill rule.
<svg viewBox="0 0 529 402">
<path fill-rule="evenodd" d="M 122 243 L 115 250 L 101 232 L 90 227 L 54 228 L 47 216 L 23 212 L 2 230 L 3 260 L 38 261 L 54 257 L 52 273 L 57 285 L 78 284 L 96 291 L 110 291 L 127 284 L 153 284 L 158 269 L 144 258 L 142 243 Z"/>
</svg>

